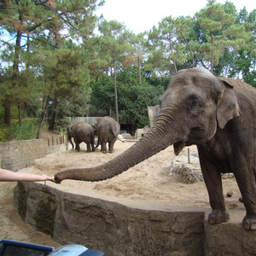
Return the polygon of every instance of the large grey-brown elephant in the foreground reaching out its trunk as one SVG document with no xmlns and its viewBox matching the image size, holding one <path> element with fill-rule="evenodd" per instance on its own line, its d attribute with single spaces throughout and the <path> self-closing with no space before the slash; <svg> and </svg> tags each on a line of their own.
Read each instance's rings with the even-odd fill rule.
<svg viewBox="0 0 256 256">
<path fill-rule="evenodd" d="M 173 144 L 175 154 L 197 145 L 212 212 L 229 221 L 221 173 L 233 172 L 246 207 L 243 226 L 256 230 L 256 90 L 240 80 L 218 79 L 207 69 L 181 70 L 160 97 L 160 114 L 145 136 L 102 166 L 57 172 L 55 180 L 100 181 L 126 171 Z"/>
</svg>

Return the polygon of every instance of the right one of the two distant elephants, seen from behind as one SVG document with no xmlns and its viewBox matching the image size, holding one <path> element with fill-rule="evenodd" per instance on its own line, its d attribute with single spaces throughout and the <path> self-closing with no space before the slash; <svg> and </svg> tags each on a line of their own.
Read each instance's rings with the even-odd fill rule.
<svg viewBox="0 0 256 256">
<path fill-rule="evenodd" d="M 102 153 L 113 153 L 113 145 L 116 142 L 120 131 L 119 123 L 110 116 L 104 116 L 97 120 L 97 123 L 94 125 L 94 127 L 98 136 L 96 148 L 101 144 Z"/>
</svg>

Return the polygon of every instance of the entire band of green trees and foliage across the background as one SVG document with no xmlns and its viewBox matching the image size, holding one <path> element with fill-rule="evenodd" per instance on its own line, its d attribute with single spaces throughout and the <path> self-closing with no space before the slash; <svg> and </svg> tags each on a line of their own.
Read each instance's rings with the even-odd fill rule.
<svg viewBox="0 0 256 256">
<path fill-rule="evenodd" d="M 89 105 L 90 115 L 116 109 L 122 122 L 143 127 L 147 106 L 157 104 L 172 76 L 188 67 L 207 67 L 256 86 L 256 9 L 237 12 L 229 1 L 211 0 L 195 17 L 168 16 L 135 35 L 117 20 L 97 19 L 94 11 L 103 3 L 1 3 L 1 32 L 13 38 L 0 40 L 1 124 L 4 107 L 11 106 L 9 119 L 19 119 L 18 103 L 22 119 L 37 118 L 44 111 L 42 99 L 49 98 L 55 129 L 67 125 L 67 116 L 84 116 Z M 3 127 L 0 137 L 16 130 Z"/>
</svg>

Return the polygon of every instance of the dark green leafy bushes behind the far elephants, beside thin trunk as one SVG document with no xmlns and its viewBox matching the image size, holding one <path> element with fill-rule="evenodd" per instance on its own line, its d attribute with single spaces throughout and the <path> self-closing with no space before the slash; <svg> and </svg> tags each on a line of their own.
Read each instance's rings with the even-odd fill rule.
<svg viewBox="0 0 256 256">
<path fill-rule="evenodd" d="M 138 82 L 136 67 L 128 67 L 117 74 L 120 122 L 135 124 L 142 128 L 148 125 L 148 106 L 159 103 L 163 87 L 147 84 L 143 78 Z M 113 79 L 102 75 L 92 90 L 91 104 L 98 109 L 114 108 Z"/>
</svg>

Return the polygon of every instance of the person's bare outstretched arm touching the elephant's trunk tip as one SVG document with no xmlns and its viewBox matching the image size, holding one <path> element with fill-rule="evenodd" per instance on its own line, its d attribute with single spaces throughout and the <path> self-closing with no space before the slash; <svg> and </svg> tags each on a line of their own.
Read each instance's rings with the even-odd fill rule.
<svg viewBox="0 0 256 256">
<path fill-rule="evenodd" d="M 11 172 L 5 169 L 0 169 L 0 181 L 20 181 L 20 182 L 33 182 L 33 181 L 46 181 L 49 180 L 55 183 L 54 177 L 49 177 L 45 174 L 38 175 L 26 172 Z"/>
</svg>

